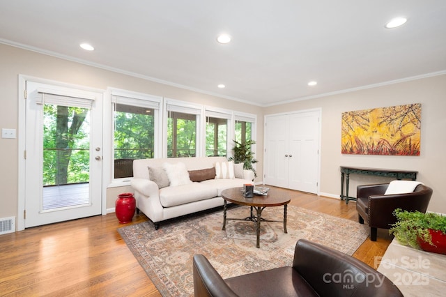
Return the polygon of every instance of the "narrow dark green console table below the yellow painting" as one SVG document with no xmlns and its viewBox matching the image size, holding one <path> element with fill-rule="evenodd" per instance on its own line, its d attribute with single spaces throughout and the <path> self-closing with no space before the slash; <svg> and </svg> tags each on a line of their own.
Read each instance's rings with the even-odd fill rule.
<svg viewBox="0 0 446 297">
<path fill-rule="evenodd" d="M 348 183 L 350 182 L 350 174 L 365 174 L 373 176 L 385 176 L 393 177 L 397 179 L 411 179 L 415 181 L 417 179 L 417 173 L 410 170 L 394 170 L 394 169 L 380 169 L 380 168 L 364 168 L 364 167 L 347 167 L 341 166 L 341 200 L 346 200 L 348 204 L 349 200 L 356 200 L 355 197 L 348 196 Z M 344 178 L 344 175 L 346 178 Z M 344 179 L 346 181 L 346 195 L 344 196 Z"/>
</svg>

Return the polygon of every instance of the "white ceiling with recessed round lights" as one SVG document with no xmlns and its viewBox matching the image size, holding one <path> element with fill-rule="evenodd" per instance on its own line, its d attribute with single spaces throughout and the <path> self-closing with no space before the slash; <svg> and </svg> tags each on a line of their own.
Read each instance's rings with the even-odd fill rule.
<svg viewBox="0 0 446 297">
<path fill-rule="evenodd" d="M 0 43 L 268 106 L 446 73 L 446 1 L 1 1 Z"/>
</svg>

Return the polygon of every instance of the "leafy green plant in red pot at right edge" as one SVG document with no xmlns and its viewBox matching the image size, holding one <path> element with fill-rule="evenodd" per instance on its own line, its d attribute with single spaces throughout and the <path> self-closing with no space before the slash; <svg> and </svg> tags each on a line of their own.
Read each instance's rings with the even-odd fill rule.
<svg viewBox="0 0 446 297">
<path fill-rule="evenodd" d="M 446 216 L 420 211 L 394 211 L 397 222 L 392 224 L 390 233 L 399 243 L 418 250 L 446 254 Z"/>
</svg>

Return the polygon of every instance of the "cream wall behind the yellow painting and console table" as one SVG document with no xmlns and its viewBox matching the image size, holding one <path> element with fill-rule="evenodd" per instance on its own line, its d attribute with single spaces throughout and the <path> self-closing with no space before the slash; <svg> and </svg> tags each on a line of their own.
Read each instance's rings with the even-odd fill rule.
<svg viewBox="0 0 446 297">
<path fill-rule="evenodd" d="M 291 110 L 322 108 L 321 194 L 339 197 L 341 182 L 339 166 L 409 169 L 419 172 L 417 181 L 433 188 L 429 211 L 446 213 L 446 75 L 389 84 L 334 96 L 277 105 L 265 114 Z M 420 156 L 343 155 L 341 154 L 341 114 L 359 109 L 422 104 Z M 356 185 L 380 183 L 388 178 L 351 175 L 350 195 L 355 197 Z"/>
</svg>

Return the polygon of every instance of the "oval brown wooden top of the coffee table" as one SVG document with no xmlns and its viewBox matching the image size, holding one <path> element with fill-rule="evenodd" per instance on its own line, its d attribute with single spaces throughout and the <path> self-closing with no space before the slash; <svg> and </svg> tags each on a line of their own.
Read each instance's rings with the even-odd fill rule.
<svg viewBox="0 0 446 297">
<path fill-rule="evenodd" d="M 268 195 L 254 195 L 252 198 L 243 197 L 241 190 L 241 187 L 223 190 L 222 198 L 246 206 L 281 206 L 289 204 L 291 201 L 288 192 L 281 189 L 270 189 Z"/>
</svg>

